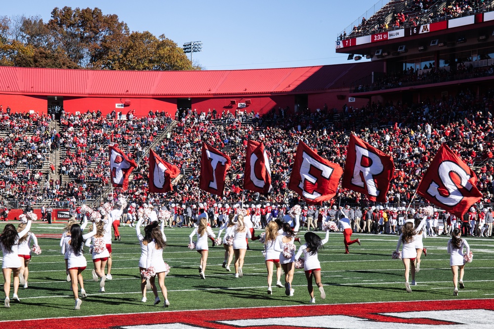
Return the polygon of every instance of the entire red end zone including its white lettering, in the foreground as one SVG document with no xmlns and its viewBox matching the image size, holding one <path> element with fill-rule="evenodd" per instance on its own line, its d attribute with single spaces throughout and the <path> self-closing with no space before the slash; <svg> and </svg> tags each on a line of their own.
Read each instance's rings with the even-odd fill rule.
<svg viewBox="0 0 494 329">
<path fill-rule="evenodd" d="M 77 311 L 74 312 L 77 313 Z M 259 329 L 259 327 L 276 329 L 487 329 L 493 328 L 491 322 L 493 316 L 494 299 L 463 299 L 167 311 L 2 321 L 0 327 L 2 329 Z"/>
</svg>

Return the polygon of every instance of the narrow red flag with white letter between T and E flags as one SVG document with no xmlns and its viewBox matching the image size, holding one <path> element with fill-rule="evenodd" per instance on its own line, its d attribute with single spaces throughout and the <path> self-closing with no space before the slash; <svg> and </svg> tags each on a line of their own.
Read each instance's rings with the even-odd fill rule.
<svg viewBox="0 0 494 329">
<path fill-rule="evenodd" d="M 262 143 L 247 142 L 244 188 L 264 194 L 267 194 L 271 188 L 271 168 L 268 153 Z"/>
</svg>

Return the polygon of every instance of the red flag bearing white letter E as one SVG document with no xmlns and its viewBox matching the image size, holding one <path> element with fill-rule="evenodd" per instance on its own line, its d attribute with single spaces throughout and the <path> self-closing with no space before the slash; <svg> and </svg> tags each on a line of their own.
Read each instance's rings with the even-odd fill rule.
<svg viewBox="0 0 494 329">
<path fill-rule="evenodd" d="M 309 204 L 322 204 L 336 194 L 342 174 L 343 169 L 338 164 L 320 157 L 300 141 L 288 188 Z"/>
</svg>

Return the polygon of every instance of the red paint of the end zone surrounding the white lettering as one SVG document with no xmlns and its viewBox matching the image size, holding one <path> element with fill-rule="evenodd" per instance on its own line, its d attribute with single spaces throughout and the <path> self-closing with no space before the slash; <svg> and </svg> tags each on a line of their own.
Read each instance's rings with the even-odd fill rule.
<svg viewBox="0 0 494 329">
<path fill-rule="evenodd" d="M 83 307 L 84 305 L 82 305 Z M 22 307 L 16 305 L 16 307 Z M 167 323 L 184 323 L 191 326 L 214 329 L 231 329 L 229 325 L 216 321 L 239 319 L 265 319 L 272 317 L 324 316 L 347 315 L 379 322 L 413 323 L 426 325 L 448 325 L 451 323 L 430 319 L 406 319 L 381 316 L 377 313 L 435 311 L 435 310 L 494 310 L 494 299 L 463 299 L 412 302 L 382 302 L 362 304 L 335 305 L 301 305 L 287 307 L 256 307 L 242 309 L 198 310 L 198 311 L 168 311 L 139 314 L 118 314 L 104 316 L 53 318 L 42 320 L 23 320 L 0 322 L 2 329 L 110 329 L 121 326 L 156 325 Z M 77 311 L 74 311 L 77 315 Z M 297 324 L 293 324 L 296 326 Z M 309 324 L 298 324 L 298 326 Z M 246 327 L 248 328 L 248 327 Z M 271 327 L 273 328 L 273 327 Z M 289 329 L 290 326 L 283 328 Z M 300 327 L 298 327 L 300 328 Z"/>
</svg>

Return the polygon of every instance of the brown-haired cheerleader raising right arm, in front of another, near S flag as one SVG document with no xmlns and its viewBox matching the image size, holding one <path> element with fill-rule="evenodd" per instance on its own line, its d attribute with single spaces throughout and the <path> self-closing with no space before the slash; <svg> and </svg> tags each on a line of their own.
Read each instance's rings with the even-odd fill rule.
<svg viewBox="0 0 494 329">
<path fill-rule="evenodd" d="M 422 230 L 425 225 L 425 220 L 427 218 L 424 217 L 418 227 L 414 227 L 413 219 L 408 219 L 405 221 L 405 224 L 402 227 L 402 234 L 398 239 L 398 244 L 396 246 L 396 252 L 400 250 L 400 246 L 403 243 L 402 249 L 402 260 L 405 265 L 405 289 L 407 292 L 412 292 L 409 283 L 409 272 L 412 270 L 412 281 L 415 281 L 415 259 L 417 257 L 417 250 L 415 249 L 415 237 L 417 231 Z"/>
</svg>

